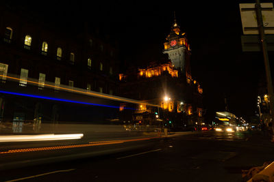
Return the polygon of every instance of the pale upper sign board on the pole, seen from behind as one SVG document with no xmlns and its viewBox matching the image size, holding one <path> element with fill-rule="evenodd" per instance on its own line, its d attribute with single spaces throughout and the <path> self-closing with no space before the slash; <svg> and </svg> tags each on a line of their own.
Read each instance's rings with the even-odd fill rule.
<svg viewBox="0 0 274 182">
<path fill-rule="evenodd" d="M 262 7 L 262 21 L 265 34 L 274 34 L 273 3 L 260 3 Z M 240 3 L 240 17 L 244 35 L 258 35 L 258 23 L 255 3 Z"/>
</svg>

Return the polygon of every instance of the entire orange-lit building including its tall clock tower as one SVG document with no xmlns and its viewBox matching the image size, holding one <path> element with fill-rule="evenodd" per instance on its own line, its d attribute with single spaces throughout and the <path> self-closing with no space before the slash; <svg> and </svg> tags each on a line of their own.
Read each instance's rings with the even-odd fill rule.
<svg viewBox="0 0 274 182">
<path fill-rule="evenodd" d="M 147 67 L 132 67 L 119 74 L 123 97 L 142 100 L 135 112 L 123 110 L 121 117 L 145 125 L 162 123 L 173 129 L 183 129 L 203 123 L 203 89 L 190 74 L 190 48 L 176 21 L 164 43 L 169 57 L 152 62 Z"/>
</svg>

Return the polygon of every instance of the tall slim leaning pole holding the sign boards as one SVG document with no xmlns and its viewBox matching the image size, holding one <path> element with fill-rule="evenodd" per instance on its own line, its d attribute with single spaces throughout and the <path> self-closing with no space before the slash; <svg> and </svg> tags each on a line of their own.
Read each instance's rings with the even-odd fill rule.
<svg viewBox="0 0 274 182">
<path fill-rule="evenodd" d="M 260 42 L 262 43 L 262 54 L 264 55 L 264 66 L 266 70 L 266 80 L 267 80 L 267 90 L 269 92 L 269 101 L 270 101 L 270 116 L 272 122 L 272 132 L 274 134 L 274 118 L 273 118 L 273 85 L 272 85 L 272 78 L 271 78 L 271 68 L 269 65 L 269 55 L 267 52 L 266 47 L 266 39 L 264 36 L 264 25 L 262 22 L 262 7 L 260 5 L 260 0 L 256 0 L 255 4 L 256 15 L 257 15 L 257 22 L 258 22 L 258 29 L 260 33 Z M 273 135 L 274 139 L 274 135 Z"/>
</svg>

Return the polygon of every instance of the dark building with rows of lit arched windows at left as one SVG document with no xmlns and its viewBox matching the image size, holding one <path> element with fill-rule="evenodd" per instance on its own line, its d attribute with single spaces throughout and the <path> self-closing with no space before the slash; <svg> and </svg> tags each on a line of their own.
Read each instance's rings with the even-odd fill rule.
<svg viewBox="0 0 274 182">
<path fill-rule="evenodd" d="M 37 14 L 5 5 L 0 12 L 0 122 L 92 121 L 106 116 L 96 107 L 60 100 L 96 103 L 89 93 L 117 94 L 115 42 L 100 37 L 87 23 L 64 27 L 65 19 L 44 22 Z"/>
</svg>

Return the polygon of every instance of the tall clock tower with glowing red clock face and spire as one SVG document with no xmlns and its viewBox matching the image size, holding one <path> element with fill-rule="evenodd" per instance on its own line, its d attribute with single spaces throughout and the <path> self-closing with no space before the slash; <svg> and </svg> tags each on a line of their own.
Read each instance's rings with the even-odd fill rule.
<svg viewBox="0 0 274 182">
<path fill-rule="evenodd" d="M 164 54 L 169 54 L 172 65 L 181 70 L 182 74 L 186 74 L 186 78 L 190 78 L 190 46 L 186 39 L 186 33 L 182 32 L 179 25 L 174 20 L 171 27 L 171 32 L 166 37 L 164 42 Z"/>
</svg>

